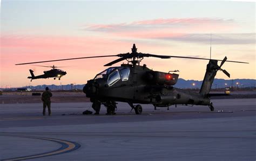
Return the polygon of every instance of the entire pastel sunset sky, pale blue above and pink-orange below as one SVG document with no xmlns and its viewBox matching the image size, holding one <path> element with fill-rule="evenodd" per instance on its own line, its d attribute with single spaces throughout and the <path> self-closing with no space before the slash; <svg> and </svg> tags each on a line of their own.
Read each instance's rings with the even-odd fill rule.
<svg viewBox="0 0 256 161">
<path fill-rule="evenodd" d="M 1 86 L 84 84 L 117 58 L 48 62 L 66 66 L 59 80 L 30 82 L 50 68 L 31 61 L 138 52 L 246 61 L 226 62 L 230 79 L 255 79 L 255 2 L 2 1 Z M 125 61 L 124 61 L 125 62 Z M 178 69 L 179 78 L 203 80 L 207 61 L 145 58 L 154 71 Z M 118 66 L 119 64 L 117 64 Z M 222 72 L 216 78 L 229 79 Z"/>
</svg>

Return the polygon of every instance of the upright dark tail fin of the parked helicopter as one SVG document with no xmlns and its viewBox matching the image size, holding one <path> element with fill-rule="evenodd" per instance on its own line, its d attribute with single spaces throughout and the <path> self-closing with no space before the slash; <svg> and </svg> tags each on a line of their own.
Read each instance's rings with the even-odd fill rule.
<svg viewBox="0 0 256 161">
<path fill-rule="evenodd" d="M 204 81 L 202 83 L 200 94 L 206 95 L 210 92 L 214 77 L 219 69 L 217 60 L 210 60 L 207 64 Z"/>
</svg>

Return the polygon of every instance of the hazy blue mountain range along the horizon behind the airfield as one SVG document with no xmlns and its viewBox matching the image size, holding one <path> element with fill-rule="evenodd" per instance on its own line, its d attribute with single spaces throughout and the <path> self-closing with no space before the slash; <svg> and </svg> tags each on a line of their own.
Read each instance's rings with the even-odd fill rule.
<svg viewBox="0 0 256 161">
<path fill-rule="evenodd" d="M 201 84 L 203 81 L 198 80 L 185 80 L 180 78 L 177 84 L 174 87 L 177 88 L 201 88 Z M 214 79 L 212 89 L 216 88 L 225 88 L 225 87 L 255 87 L 256 80 L 255 79 L 234 79 L 234 80 L 225 80 L 225 79 Z M 83 89 L 84 85 L 38 85 L 38 86 L 25 86 L 21 88 L 30 88 L 36 90 L 44 90 L 45 87 L 49 87 L 51 90 L 71 90 L 71 89 Z M 0 88 L 1 89 L 1 88 Z M 16 90 L 17 88 L 11 88 L 11 90 Z M 5 90 L 5 88 L 2 88 Z"/>
</svg>

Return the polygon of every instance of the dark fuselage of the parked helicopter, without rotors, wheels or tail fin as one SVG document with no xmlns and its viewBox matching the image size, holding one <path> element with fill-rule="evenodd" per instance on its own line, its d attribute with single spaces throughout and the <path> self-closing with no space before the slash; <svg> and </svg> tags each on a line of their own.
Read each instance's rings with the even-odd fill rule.
<svg viewBox="0 0 256 161">
<path fill-rule="evenodd" d="M 89 80 L 84 87 L 91 102 L 120 101 L 129 104 L 153 104 L 169 107 L 173 104 L 210 105 L 203 95 L 174 88 L 178 74 L 152 71 L 144 66 L 123 64 L 111 67 Z"/>
</svg>

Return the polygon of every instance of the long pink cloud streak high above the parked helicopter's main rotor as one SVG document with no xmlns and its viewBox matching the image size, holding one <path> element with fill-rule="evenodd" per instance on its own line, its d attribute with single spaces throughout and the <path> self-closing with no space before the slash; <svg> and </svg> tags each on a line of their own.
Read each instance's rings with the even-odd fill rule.
<svg viewBox="0 0 256 161">
<path fill-rule="evenodd" d="M 169 18 L 142 20 L 132 23 L 84 25 L 84 30 L 104 32 L 122 38 L 183 40 L 190 34 L 226 33 L 235 27 L 233 19 Z"/>
</svg>

